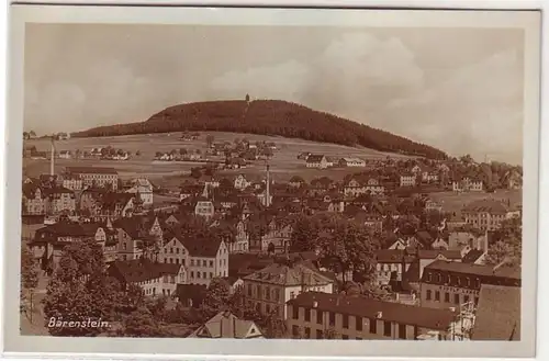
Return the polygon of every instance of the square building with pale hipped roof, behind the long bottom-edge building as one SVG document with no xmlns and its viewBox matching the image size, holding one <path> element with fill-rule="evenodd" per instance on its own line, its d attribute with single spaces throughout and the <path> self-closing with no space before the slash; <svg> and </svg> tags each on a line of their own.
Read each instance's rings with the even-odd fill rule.
<svg viewBox="0 0 549 361">
<path fill-rule="evenodd" d="M 243 278 L 249 306 L 285 319 L 287 302 L 307 291 L 334 292 L 334 281 L 300 262 L 273 262 Z"/>
</svg>

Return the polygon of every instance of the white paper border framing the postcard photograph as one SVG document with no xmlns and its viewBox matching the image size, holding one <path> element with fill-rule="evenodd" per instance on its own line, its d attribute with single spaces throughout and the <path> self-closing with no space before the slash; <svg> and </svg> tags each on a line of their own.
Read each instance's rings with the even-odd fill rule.
<svg viewBox="0 0 549 361">
<path fill-rule="evenodd" d="M 99 1 L 98 1 L 99 2 Z M 133 1 L 134 3 L 137 1 Z M 220 3 L 221 1 L 217 1 Z M 403 1 L 386 1 L 385 5 L 397 5 L 395 2 Z M 234 2 L 233 2 L 234 3 Z M 284 3 L 279 1 L 278 3 Z M 341 3 L 341 2 L 338 2 Z M 346 5 L 350 3 L 357 4 L 357 1 L 345 1 Z M 363 3 L 363 1 L 362 1 Z M 425 7 L 426 1 L 423 2 Z M 491 5 L 493 2 L 489 2 Z M 524 1 L 520 3 L 528 3 Z M 531 3 L 531 2 L 530 2 Z M 326 1 L 316 2 L 316 4 L 326 4 Z M 417 3 L 416 3 L 417 4 Z M 429 2 L 433 7 L 434 3 Z M 448 5 L 448 1 L 441 1 L 441 5 Z M 480 1 L 462 1 L 467 8 L 480 7 Z M 334 1 L 332 1 L 334 5 Z M 422 5 L 422 4 L 419 4 Z M 457 7 L 457 4 L 452 5 Z M 513 5 L 512 5 L 513 7 Z M 517 7 L 517 3 L 514 3 Z M 528 328 L 528 325 L 535 325 L 535 280 L 536 280 L 536 239 L 537 239 L 537 200 L 538 200 L 538 109 L 539 97 L 537 97 L 539 86 L 537 83 L 539 64 L 537 56 L 537 44 L 539 44 L 539 24 L 531 21 L 527 13 L 483 13 L 483 12 L 437 12 L 436 14 L 429 11 L 414 11 L 414 13 L 397 11 L 337 11 L 330 10 L 257 10 L 257 9 L 180 9 L 167 8 L 66 8 L 66 7 L 12 7 L 10 24 L 11 29 L 11 47 L 10 47 L 10 122 L 7 123 L 7 184 L 8 192 L 5 193 L 7 202 L 4 204 L 15 204 L 19 207 L 21 193 L 21 149 L 22 140 L 19 136 L 22 133 L 22 24 L 24 21 L 33 22 L 93 22 L 93 23 L 215 23 L 215 24 L 271 24 L 271 25 L 315 25 L 315 24 L 332 24 L 345 26 L 417 26 L 423 27 L 439 27 L 439 26 L 519 26 L 526 30 L 526 46 L 527 54 L 526 64 L 526 87 L 525 99 L 525 191 L 524 191 L 524 211 L 525 211 L 525 249 L 524 258 L 527 260 L 523 270 L 523 332 L 529 332 L 529 340 L 517 342 L 468 342 L 467 347 L 459 342 L 442 342 L 442 343 L 425 343 L 425 342 L 391 342 L 390 346 L 384 341 L 344 341 L 345 349 L 337 349 L 329 341 L 309 341 L 303 343 L 300 341 L 289 340 L 269 340 L 269 341 L 235 341 L 235 340 L 186 340 L 186 339 L 158 339 L 158 340 L 134 340 L 134 339 L 55 339 L 49 337 L 21 337 L 19 334 L 19 315 L 12 317 L 12 312 L 4 313 L 5 329 L 4 341 L 7 351 L 41 351 L 56 352 L 60 351 L 58 346 L 63 343 L 63 352 L 138 352 L 146 354 L 159 350 L 169 350 L 169 354 L 178 352 L 194 354 L 203 358 L 204 354 L 215 353 L 220 358 L 221 354 L 240 354 L 238 359 L 243 359 L 245 354 L 257 356 L 279 356 L 288 354 L 293 357 L 323 356 L 323 357 L 362 357 L 362 356 L 400 356 L 400 357 L 529 357 L 534 350 L 534 330 Z M 299 15 L 295 15 L 300 13 Z M 348 14 L 347 14 L 348 13 Z M 399 15 L 394 15 L 399 13 Z M 13 136 L 10 136 L 13 135 Z M 11 140 L 11 142 L 9 142 Z M 0 163 L 1 165 L 1 163 Z M 544 176 L 541 176 L 544 180 Z M 1 200 L 1 198 L 0 198 Z M 15 203 L 13 203 L 15 202 Z M 20 223 L 18 212 L 5 214 L 5 224 L 18 225 Z M 3 221 L 3 219 L 2 219 Z M 20 239 L 20 229 L 18 227 L 9 228 L 5 239 Z M 528 242 L 528 239 L 533 241 Z M 8 257 L 5 260 L 7 270 L 19 269 L 19 241 L 8 241 L 3 255 L 16 255 L 16 257 Z M 16 279 L 18 272 L 7 272 L 9 277 L 5 279 L 7 290 L 5 309 L 16 309 L 19 303 L 19 292 L 15 290 L 19 286 Z M 15 319 L 15 323 L 13 323 Z M 13 327 L 15 326 L 15 327 Z M 531 332 L 530 332 L 530 331 Z M 527 337 L 523 334 L 523 339 Z M 284 343 L 281 343 L 284 342 Z M 335 341 L 337 342 L 337 341 Z M 240 343 L 243 346 L 240 346 Z M 244 346 L 245 345 L 245 346 Z M 338 345 L 338 343 L 336 343 Z M 18 346 L 20 348 L 18 348 Z M 343 346 L 343 345 L 341 345 Z M 21 348 L 22 347 L 22 348 Z M 526 351 L 523 352 L 523 351 Z M 83 356 L 83 354 L 82 354 Z M 91 356 L 91 354 L 89 354 Z M 60 354 L 57 354 L 60 357 Z M 107 354 L 104 356 L 107 357 Z M 119 356 L 120 357 L 120 356 Z M 133 358 L 138 356 L 133 356 Z M 164 358 L 168 357 L 167 354 Z M 147 356 L 147 358 L 152 358 Z M 284 357 L 285 359 L 289 359 Z M 181 359 L 181 357 L 178 357 Z M 247 359 L 247 358 L 246 358 Z"/>
</svg>

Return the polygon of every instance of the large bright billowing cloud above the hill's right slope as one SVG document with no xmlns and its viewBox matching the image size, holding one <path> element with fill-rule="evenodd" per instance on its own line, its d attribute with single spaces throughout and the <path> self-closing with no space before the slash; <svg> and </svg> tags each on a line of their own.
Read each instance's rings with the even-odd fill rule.
<svg viewBox="0 0 549 361">
<path fill-rule="evenodd" d="M 346 33 L 307 61 L 229 71 L 211 87 L 227 94 L 303 101 L 337 112 L 357 108 L 357 100 L 368 106 L 388 93 L 414 91 L 422 87 L 423 76 L 413 53 L 400 40 Z"/>
</svg>

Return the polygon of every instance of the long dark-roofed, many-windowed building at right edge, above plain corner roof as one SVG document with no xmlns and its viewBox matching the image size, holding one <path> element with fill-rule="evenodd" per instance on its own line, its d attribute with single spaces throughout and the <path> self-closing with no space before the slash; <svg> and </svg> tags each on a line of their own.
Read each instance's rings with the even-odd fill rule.
<svg viewBox="0 0 549 361">
<path fill-rule="evenodd" d="M 520 272 L 509 267 L 435 261 L 424 269 L 421 304 L 433 308 L 478 305 L 483 284 L 520 286 Z"/>
</svg>

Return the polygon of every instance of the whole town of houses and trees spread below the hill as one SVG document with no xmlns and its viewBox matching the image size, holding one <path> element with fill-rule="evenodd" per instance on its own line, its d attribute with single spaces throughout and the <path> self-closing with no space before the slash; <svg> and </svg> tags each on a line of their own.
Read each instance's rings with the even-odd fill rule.
<svg viewBox="0 0 549 361">
<path fill-rule="evenodd" d="M 169 204 L 147 177 L 97 166 L 138 153 L 25 148 L 49 162 L 22 184 L 30 335 L 519 338 L 522 167 L 303 151 L 303 171 L 347 173 L 277 181 L 277 144 L 214 140 L 149 159 L 197 162 Z M 56 171 L 57 159 L 90 157 Z M 250 167 L 255 177 L 239 172 Z M 82 314 L 113 326 L 44 327 Z"/>
</svg>

